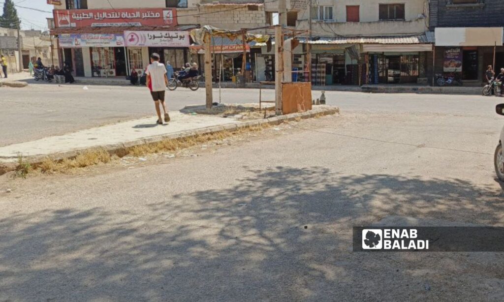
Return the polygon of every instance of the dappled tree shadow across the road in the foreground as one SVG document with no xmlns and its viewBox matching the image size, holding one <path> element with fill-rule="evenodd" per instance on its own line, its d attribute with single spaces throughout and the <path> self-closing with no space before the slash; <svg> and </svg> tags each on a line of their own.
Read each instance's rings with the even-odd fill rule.
<svg viewBox="0 0 504 302">
<path fill-rule="evenodd" d="M 388 215 L 501 225 L 495 187 L 319 167 L 246 174 L 233 186 L 165 196 L 143 211 L 47 209 L 0 220 L 2 297 L 404 300 L 502 293 L 501 253 L 351 252 L 352 225 Z M 497 280 L 495 288 L 468 283 L 487 279 Z"/>
</svg>

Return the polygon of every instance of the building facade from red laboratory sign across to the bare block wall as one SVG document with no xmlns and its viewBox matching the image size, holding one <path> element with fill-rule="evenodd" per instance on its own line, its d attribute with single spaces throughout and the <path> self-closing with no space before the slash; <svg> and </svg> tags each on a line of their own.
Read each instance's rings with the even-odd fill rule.
<svg viewBox="0 0 504 302">
<path fill-rule="evenodd" d="M 203 55 L 193 45 L 190 31 L 201 25 L 231 30 L 264 26 L 263 2 L 145 0 L 139 4 L 133 0 L 64 0 L 54 5 L 51 33 L 58 38 L 61 63 L 72 65 L 77 76 L 127 77 L 132 69 L 142 74 L 153 52 L 175 70 L 185 62 L 197 62 L 202 67 Z M 218 54 L 214 59 L 215 77 L 226 74 L 226 80 L 231 80 L 237 72 L 235 67 L 242 63 L 237 56 L 243 52 L 242 43 L 220 40 L 214 45 Z M 251 57 L 247 55 L 247 60 Z"/>
</svg>

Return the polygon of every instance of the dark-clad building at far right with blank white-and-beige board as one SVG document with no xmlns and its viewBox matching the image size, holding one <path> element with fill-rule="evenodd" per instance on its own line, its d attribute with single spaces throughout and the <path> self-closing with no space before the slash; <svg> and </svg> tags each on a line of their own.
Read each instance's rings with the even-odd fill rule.
<svg viewBox="0 0 504 302">
<path fill-rule="evenodd" d="M 431 0 L 429 8 L 434 73 L 455 73 L 464 86 L 480 86 L 489 65 L 495 65 L 496 73 L 504 67 L 504 1 Z"/>
</svg>

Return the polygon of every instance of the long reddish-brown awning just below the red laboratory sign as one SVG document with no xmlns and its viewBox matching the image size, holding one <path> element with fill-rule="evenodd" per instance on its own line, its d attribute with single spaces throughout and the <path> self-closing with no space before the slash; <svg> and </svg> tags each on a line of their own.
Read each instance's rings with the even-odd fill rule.
<svg viewBox="0 0 504 302">
<path fill-rule="evenodd" d="M 124 26 L 124 27 L 58 27 L 51 29 L 51 35 L 59 34 L 122 34 L 124 31 L 188 31 L 199 28 L 199 25 L 178 26 Z"/>
</svg>

